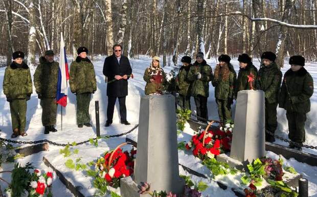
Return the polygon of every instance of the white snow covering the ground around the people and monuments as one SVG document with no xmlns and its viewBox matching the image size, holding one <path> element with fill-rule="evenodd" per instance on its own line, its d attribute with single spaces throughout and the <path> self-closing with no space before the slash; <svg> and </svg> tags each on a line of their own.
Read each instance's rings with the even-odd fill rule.
<svg viewBox="0 0 317 197">
<path fill-rule="evenodd" d="M 216 66 L 215 58 L 207 60 L 207 62 L 211 65 L 211 67 L 215 68 Z M 140 96 L 144 94 L 145 82 L 143 80 L 144 70 L 147 66 L 149 66 L 151 59 L 147 56 L 140 56 L 140 59 L 132 59 L 131 67 L 133 70 L 134 79 L 129 80 L 129 95 L 127 96 L 127 119 L 131 122 L 130 126 L 124 126 L 120 124 L 119 118 L 119 104 L 117 103 L 114 114 L 114 123 L 109 128 L 103 127 L 106 121 L 106 108 L 107 108 L 107 96 L 106 96 L 106 84 L 104 82 L 104 76 L 102 74 L 104 57 L 98 56 L 95 58 L 94 65 L 96 71 L 96 79 L 97 79 L 97 92 L 92 96 L 92 101 L 90 102 L 90 117 L 92 118 L 92 122 L 95 123 L 95 101 L 99 101 L 100 106 L 100 124 L 101 124 L 101 135 L 113 135 L 126 132 L 134 127 L 135 124 L 138 124 L 139 119 L 139 107 L 140 107 Z M 239 65 L 237 58 L 232 60 L 232 64 L 235 67 L 235 70 L 238 72 Z M 259 62 L 257 59 L 254 59 L 254 64 L 257 68 L 259 68 Z M 70 65 L 70 64 L 69 64 Z M 283 74 L 287 69 L 289 69 L 288 60 L 285 60 L 285 67 L 282 68 Z M 310 72 L 314 79 L 314 86 L 317 87 L 317 63 L 307 63 L 305 68 Z M 172 67 L 165 67 L 164 70 L 169 72 Z M 34 69 L 31 70 L 32 78 Z M 2 84 L 4 77 L 5 68 L 0 68 L 0 83 Z M 39 139 L 49 139 L 58 143 L 67 143 L 67 142 L 80 142 L 83 140 L 87 140 L 89 138 L 93 138 L 96 136 L 96 127 L 93 128 L 77 128 L 76 125 L 76 97 L 71 93 L 70 89 L 68 91 L 68 104 L 66 108 L 63 108 L 63 130 L 60 128 L 60 107 L 58 107 L 58 116 L 57 116 L 57 129 L 58 132 L 51 133 L 50 135 L 43 134 L 43 127 L 41 124 L 41 107 L 39 105 L 39 100 L 37 99 L 37 95 L 35 94 L 35 89 L 33 89 L 33 94 L 31 96 L 31 100 L 28 101 L 28 110 L 27 110 L 27 133 L 26 137 L 18 137 L 17 140 L 39 140 Z M 194 110 L 195 105 L 192 100 L 192 110 Z M 233 106 L 233 109 L 235 106 Z M 6 102 L 6 97 L 3 94 L 2 85 L 0 86 L 0 129 L 2 132 L 0 133 L 0 137 L 10 139 L 12 134 L 11 128 L 11 116 L 10 116 L 10 108 L 9 103 Z M 214 88 L 210 85 L 210 96 L 208 99 L 208 113 L 209 119 L 218 119 L 217 108 L 214 98 Z M 234 114 L 234 113 L 233 113 Z M 311 97 L 311 111 L 307 115 L 306 121 L 306 144 L 309 145 L 317 145 L 317 123 L 314 119 L 317 117 L 317 89 L 315 88 L 314 94 Z M 277 134 L 287 138 L 287 120 L 285 111 L 283 109 L 278 109 L 278 131 Z M 133 131 L 129 134 L 129 137 L 136 138 L 138 130 Z M 191 138 L 192 130 L 187 125 L 186 131 L 178 136 L 178 141 L 186 140 L 188 141 Z M 124 141 L 125 136 L 119 138 L 112 138 L 107 140 L 101 140 L 98 146 L 98 149 L 94 149 L 93 145 L 87 144 L 78 146 L 80 152 L 85 153 L 87 150 L 92 150 L 94 154 L 91 157 L 98 156 L 103 152 L 116 147 L 116 145 L 120 144 Z M 276 143 L 287 145 L 287 143 L 277 140 Z M 34 154 L 31 156 L 27 156 L 25 158 L 18 159 L 17 162 L 25 164 L 27 162 L 33 162 L 33 165 L 36 168 L 40 168 L 42 170 L 48 170 L 48 167 L 43 164 L 42 157 L 47 154 L 54 154 L 59 151 L 60 147 L 50 145 L 49 152 L 41 152 L 38 154 Z M 308 150 L 306 148 L 303 149 L 306 152 L 317 154 L 316 150 Z M 100 152 L 100 153 L 99 153 Z M 87 153 L 90 153 L 87 151 Z M 276 154 L 268 152 L 268 156 L 270 157 L 278 157 Z M 58 156 L 56 156 L 58 157 Z M 294 159 L 285 160 L 284 163 L 292 165 L 296 168 L 296 170 L 303 174 L 304 177 L 308 178 L 309 183 L 309 195 L 317 197 L 317 167 L 312 167 L 307 164 L 303 164 L 297 162 Z M 186 166 L 191 167 L 194 170 L 200 171 L 202 174 L 208 174 L 208 169 L 199 164 L 199 160 L 194 158 L 192 155 L 188 155 L 183 151 L 179 151 L 179 162 L 186 163 Z M 3 164 L 3 169 L 10 169 L 13 167 L 12 164 Z M 60 169 L 62 169 L 63 162 L 61 162 Z M 76 172 L 77 173 L 77 172 Z M 76 174 L 75 173 L 75 174 Z M 180 167 L 180 174 L 187 175 L 187 172 Z M 9 181 L 9 175 L 1 174 L 1 177 L 5 178 Z M 76 175 L 74 175 L 76 176 Z M 201 178 L 197 178 L 192 176 L 193 180 L 200 180 Z M 218 185 L 210 180 L 203 180 L 204 182 L 209 184 L 209 188 L 203 192 L 206 196 L 210 194 L 213 196 L 213 193 L 216 192 L 217 196 L 234 196 L 234 193 L 230 190 L 222 190 L 218 187 Z M 2 188 L 6 188 L 7 185 L 4 182 L 0 182 Z M 53 183 L 53 194 L 54 196 L 72 196 L 71 192 L 65 188 L 65 186 L 58 180 L 55 179 Z"/>
</svg>

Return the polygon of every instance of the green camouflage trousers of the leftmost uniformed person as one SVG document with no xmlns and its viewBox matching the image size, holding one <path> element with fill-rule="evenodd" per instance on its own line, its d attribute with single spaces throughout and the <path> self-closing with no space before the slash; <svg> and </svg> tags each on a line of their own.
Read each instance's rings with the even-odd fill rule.
<svg viewBox="0 0 317 197">
<path fill-rule="evenodd" d="M 10 102 L 10 112 L 12 120 L 12 131 L 18 129 L 20 132 L 25 132 L 26 128 L 26 113 L 27 100 L 14 99 Z"/>
</svg>

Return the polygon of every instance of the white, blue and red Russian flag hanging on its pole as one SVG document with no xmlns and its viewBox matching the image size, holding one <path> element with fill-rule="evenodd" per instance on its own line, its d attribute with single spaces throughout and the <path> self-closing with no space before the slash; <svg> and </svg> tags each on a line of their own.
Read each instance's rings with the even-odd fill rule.
<svg viewBox="0 0 317 197">
<path fill-rule="evenodd" d="M 70 73 L 67 65 L 65 43 L 63 34 L 60 35 L 60 53 L 59 53 L 59 72 L 57 80 L 56 103 L 66 107 L 67 105 L 67 80 L 70 79 Z"/>
</svg>

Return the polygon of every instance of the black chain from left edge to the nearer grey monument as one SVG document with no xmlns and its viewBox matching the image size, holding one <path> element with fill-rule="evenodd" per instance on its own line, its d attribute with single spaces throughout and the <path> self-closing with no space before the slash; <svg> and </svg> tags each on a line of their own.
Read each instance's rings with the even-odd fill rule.
<svg viewBox="0 0 317 197">
<path fill-rule="evenodd" d="M 112 138 L 112 137 L 120 137 L 123 135 L 127 135 L 127 134 L 131 133 L 132 131 L 134 131 L 135 129 L 137 129 L 138 127 L 139 127 L 139 125 L 135 125 L 131 130 L 129 130 L 125 133 L 121 133 L 121 134 L 117 134 L 117 135 L 105 135 L 105 136 L 95 137 L 95 138 L 93 138 L 93 140 L 100 139 L 100 138 Z M 3 141 L 8 142 L 8 143 L 17 143 L 17 144 L 37 144 L 37 143 L 43 143 L 43 142 L 48 142 L 48 143 L 56 145 L 56 146 L 66 146 L 67 144 L 69 144 L 69 143 L 66 143 L 66 144 L 65 143 L 56 143 L 56 142 L 50 141 L 48 139 L 42 139 L 42 140 L 36 140 L 36 141 L 16 141 L 16 140 L 11 140 L 11 139 L 6 139 L 6 138 L 0 137 L 0 140 L 3 140 Z M 70 146 L 77 146 L 77 145 L 87 143 L 87 142 L 89 142 L 89 140 L 90 139 L 78 142 L 78 143 L 76 143 L 76 145 L 73 145 L 73 144 L 69 144 L 69 145 Z"/>
</svg>

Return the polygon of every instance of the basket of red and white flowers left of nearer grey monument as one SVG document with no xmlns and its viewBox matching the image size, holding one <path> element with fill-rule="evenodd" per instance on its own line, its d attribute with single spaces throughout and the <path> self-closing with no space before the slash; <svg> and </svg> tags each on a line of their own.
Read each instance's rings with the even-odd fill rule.
<svg viewBox="0 0 317 197">
<path fill-rule="evenodd" d="M 118 188 L 121 178 L 133 174 L 136 154 L 137 151 L 133 149 L 130 152 L 123 152 L 122 149 L 117 148 L 114 152 L 107 152 L 104 157 L 99 158 L 95 170 L 105 179 L 107 185 Z"/>
</svg>

